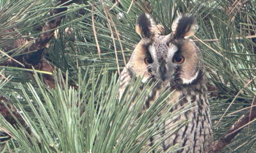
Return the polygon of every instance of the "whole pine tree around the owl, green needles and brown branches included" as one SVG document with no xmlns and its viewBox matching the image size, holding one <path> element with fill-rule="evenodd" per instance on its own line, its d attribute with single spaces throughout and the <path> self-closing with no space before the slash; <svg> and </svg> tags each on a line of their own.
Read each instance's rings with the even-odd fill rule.
<svg viewBox="0 0 256 153">
<path fill-rule="evenodd" d="M 138 152 L 161 122 L 179 116 L 182 111 L 165 112 L 154 121 L 172 94 L 164 92 L 136 118 L 150 92 L 139 89 L 141 78 L 132 80 L 129 96 L 116 96 L 118 75 L 140 41 L 134 26 L 143 12 L 165 34 L 178 15 L 196 16 L 191 39 L 207 68 L 215 142 L 209 152 L 255 152 L 255 6 L 246 0 L 1 0 L 1 152 Z"/>
</svg>

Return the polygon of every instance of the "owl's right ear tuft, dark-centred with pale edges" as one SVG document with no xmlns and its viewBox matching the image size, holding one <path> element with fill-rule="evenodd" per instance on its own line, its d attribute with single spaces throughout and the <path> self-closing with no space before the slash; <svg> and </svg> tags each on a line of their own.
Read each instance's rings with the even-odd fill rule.
<svg viewBox="0 0 256 153">
<path fill-rule="evenodd" d="M 192 15 L 182 15 L 176 18 L 172 24 L 173 38 L 189 38 L 196 33 L 198 25 Z"/>
</svg>

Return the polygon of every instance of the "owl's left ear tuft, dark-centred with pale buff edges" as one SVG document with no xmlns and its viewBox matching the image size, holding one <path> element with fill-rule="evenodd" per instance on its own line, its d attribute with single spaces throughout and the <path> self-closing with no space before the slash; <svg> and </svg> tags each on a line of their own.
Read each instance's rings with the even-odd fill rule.
<svg viewBox="0 0 256 153">
<path fill-rule="evenodd" d="M 140 34 L 141 38 L 152 38 L 157 34 L 161 34 L 156 22 L 148 13 L 143 13 L 138 18 L 136 33 Z"/>
</svg>

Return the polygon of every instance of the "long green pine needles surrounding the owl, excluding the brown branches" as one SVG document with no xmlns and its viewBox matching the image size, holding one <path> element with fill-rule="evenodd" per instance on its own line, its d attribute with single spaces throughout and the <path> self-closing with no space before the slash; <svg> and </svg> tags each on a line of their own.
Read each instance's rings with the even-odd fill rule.
<svg viewBox="0 0 256 153">
<path fill-rule="evenodd" d="M 122 112 L 128 108 L 120 108 L 120 105 L 117 105 L 118 99 L 114 97 L 117 92 L 116 78 L 119 69 L 121 71 L 125 61 L 129 60 L 134 45 L 140 41 L 134 26 L 136 18 L 143 12 L 148 12 L 156 18 L 156 22 L 164 26 L 165 34 L 172 32 L 172 21 L 177 15 L 196 15 L 199 29 L 191 39 L 195 40 L 202 50 L 202 60 L 205 61 L 209 83 L 218 88 L 209 92 L 214 140 L 218 140 L 243 115 L 245 110 L 241 109 L 251 106 L 255 98 L 255 6 L 255 1 L 231 0 L 74 1 L 67 6 L 68 10 L 64 13 L 65 17 L 61 20 L 58 33 L 45 48 L 44 57 L 56 66 L 56 69 L 67 72 L 68 79 L 74 81 L 79 89 L 68 89 L 65 80 L 62 80 L 63 83 L 56 83 L 56 89 L 48 89 L 47 85 L 42 84 L 40 73 L 39 77 L 31 79 L 32 75 L 28 77 L 24 69 L 1 66 L 4 75 L 12 77 L 1 88 L 1 96 L 10 99 L 21 111 L 20 114 L 26 119 L 29 128 L 32 128 L 31 141 L 34 144 L 28 142 L 26 128 L 19 128 L 17 131 L 1 120 L 1 126 L 13 135 L 13 138 L 6 140 L 8 143 L 3 142 L 2 152 L 90 152 L 90 149 L 96 149 L 92 147 L 93 144 L 104 144 L 97 149 L 120 152 L 125 147 L 128 149 L 130 146 L 136 146 L 134 139 L 143 131 L 116 143 L 122 131 L 109 127 L 109 133 L 105 135 L 104 130 L 109 123 L 108 116 L 101 117 L 96 112 L 113 111 L 113 117 L 116 118 L 110 120 L 115 121 L 113 123 L 117 129 L 122 130 L 125 130 L 125 127 L 120 126 L 116 120 L 128 122 L 131 118 L 131 114 L 125 115 Z M 57 6 L 56 1 L 52 0 L 0 1 L 0 62 L 9 59 L 3 52 L 12 57 L 24 54 L 22 49 L 37 38 L 45 22 L 50 19 L 50 11 L 56 7 L 61 6 Z M 100 56 L 93 33 L 92 14 Z M 70 33 L 65 32 L 67 28 L 71 29 Z M 9 31 L 10 29 L 12 31 Z M 15 40 L 28 43 L 15 48 Z M 56 74 L 55 77 L 61 78 L 61 75 Z M 4 81 L 4 78 L 2 79 Z M 134 84 L 135 82 L 134 80 Z M 141 94 L 141 98 L 147 94 L 146 91 L 143 92 L 145 93 Z M 106 100 L 108 98 L 109 100 Z M 29 103 L 30 99 L 33 99 L 34 103 Z M 161 103 L 164 94 L 163 98 L 159 99 Z M 72 105 L 74 101 L 77 105 L 86 105 L 77 108 Z M 99 108 L 93 108 L 98 103 Z M 82 108 L 88 113 L 80 116 L 84 111 Z M 98 119 L 103 120 L 103 123 L 95 122 Z M 147 129 L 147 125 L 148 123 L 143 123 L 140 128 Z M 94 128 L 84 130 L 84 127 L 88 126 Z M 255 130 L 256 124 L 252 122 L 250 126 L 243 128 L 222 152 L 255 152 Z M 112 138 L 110 133 L 116 133 L 115 138 Z M 129 133 L 133 134 L 133 131 Z M 127 146 L 122 146 L 124 143 Z M 136 147 L 132 149 L 138 150 Z M 93 150 L 92 152 L 100 152 Z"/>
</svg>

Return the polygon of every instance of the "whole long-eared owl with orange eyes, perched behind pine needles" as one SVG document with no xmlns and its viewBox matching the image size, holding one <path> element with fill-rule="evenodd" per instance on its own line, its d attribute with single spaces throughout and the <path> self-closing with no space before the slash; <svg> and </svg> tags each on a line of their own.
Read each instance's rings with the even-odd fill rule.
<svg viewBox="0 0 256 153">
<path fill-rule="evenodd" d="M 157 81 L 142 109 L 151 106 L 164 90 L 174 91 L 166 100 L 166 103 L 176 103 L 170 112 L 195 103 L 193 108 L 175 120 L 187 119 L 188 124 L 164 140 L 156 150 L 159 152 L 165 152 L 173 145 L 184 147 L 177 152 L 205 152 L 212 143 L 204 62 L 200 49 L 189 40 L 197 29 L 195 17 L 180 15 L 173 21 L 172 33 L 164 35 L 154 19 L 143 13 L 136 24 L 136 33 L 141 36 L 141 41 L 134 48 L 127 68 L 120 74 L 120 96 L 133 75 L 143 77 L 142 82 Z M 165 128 L 175 122 L 166 120 Z"/>
</svg>

